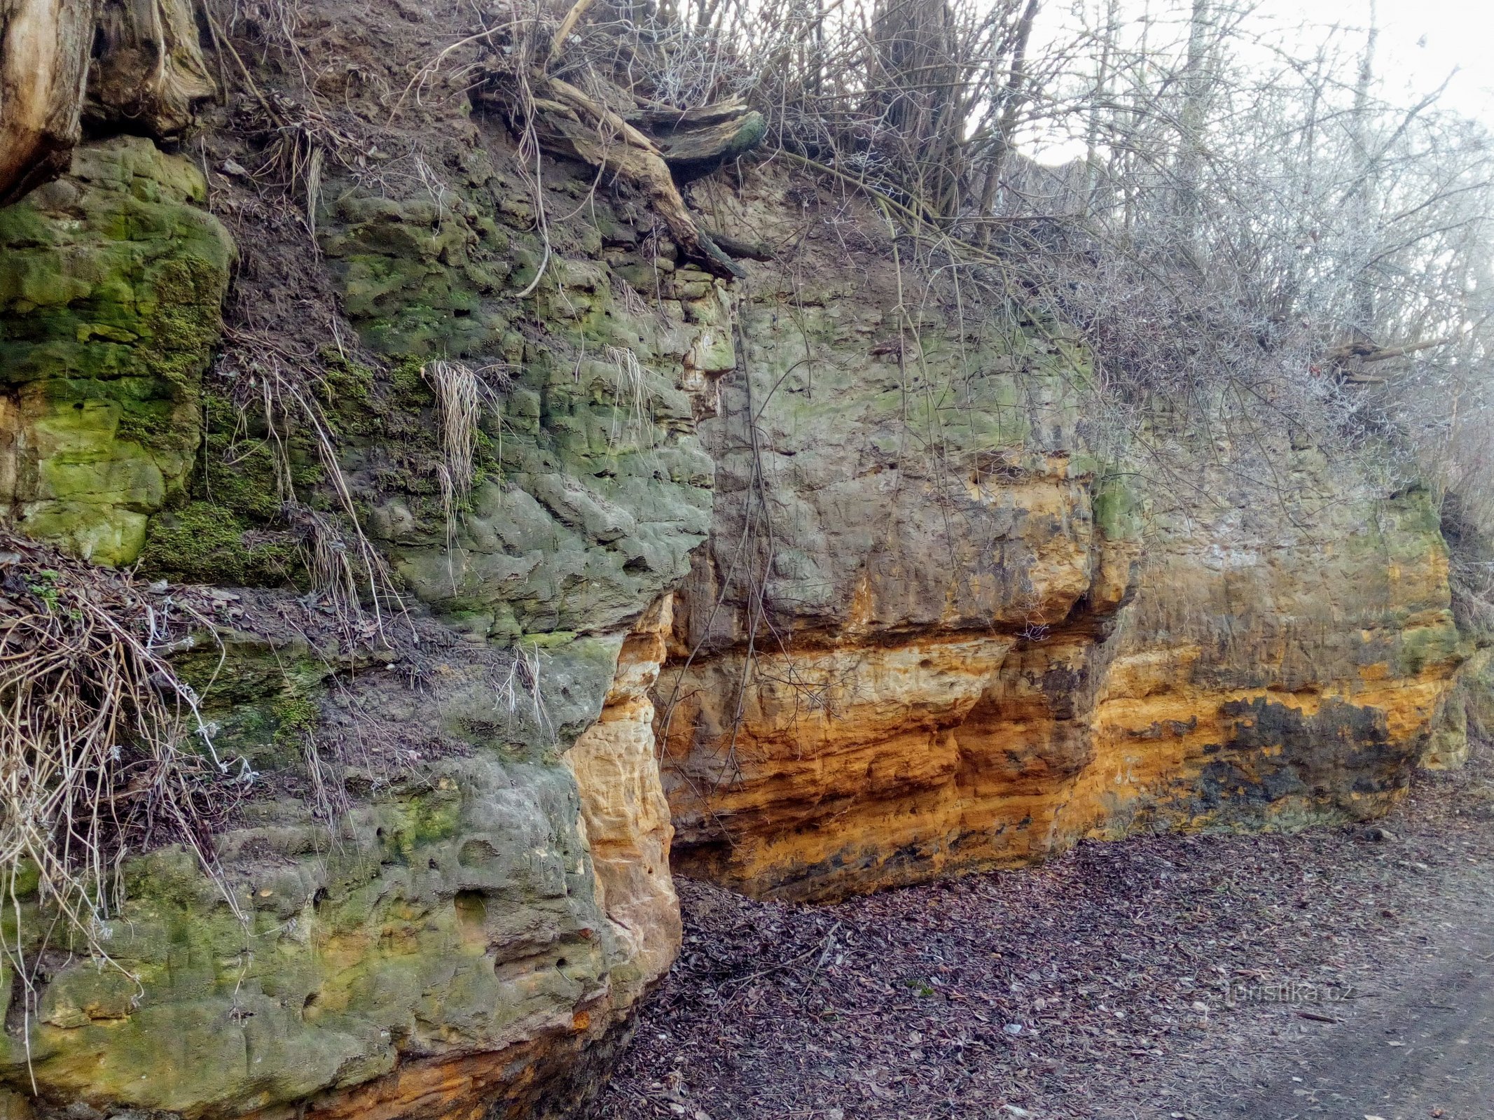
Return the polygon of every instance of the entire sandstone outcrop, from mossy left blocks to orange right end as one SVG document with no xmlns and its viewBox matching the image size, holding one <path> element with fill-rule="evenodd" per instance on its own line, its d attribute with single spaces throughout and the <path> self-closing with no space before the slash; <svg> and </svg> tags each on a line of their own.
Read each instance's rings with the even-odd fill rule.
<svg viewBox="0 0 1494 1120">
<path fill-rule="evenodd" d="M 302 7 L 323 49 L 362 33 Z M 182 127 L 184 9 L 102 10 L 90 119 Z M 414 70 L 354 46 L 317 97 Z M 0 1078 L 34 1107 L 560 1116 L 678 951 L 671 862 L 831 899 L 1363 818 L 1485 718 L 1449 700 L 1424 493 L 1228 417 L 1158 415 L 1143 458 L 1062 324 L 914 285 L 855 203 L 807 218 L 810 181 L 744 172 L 696 225 L 711 179 L 669 176 L 754 113 L 633 115 L 624 152 L 581 125 L 626 106 L 577 90 L 536 142 L 580 163 L 521 163 L 475 82 L 339 161 L 257 73 L 266 119 L 211 158 L 97 136 L 0 209 L 0 517 L 139 566 L 235 760 L 208 869 L 120 839 L 108 960 L 43 944 L 10 869 Z"/>
</svg>

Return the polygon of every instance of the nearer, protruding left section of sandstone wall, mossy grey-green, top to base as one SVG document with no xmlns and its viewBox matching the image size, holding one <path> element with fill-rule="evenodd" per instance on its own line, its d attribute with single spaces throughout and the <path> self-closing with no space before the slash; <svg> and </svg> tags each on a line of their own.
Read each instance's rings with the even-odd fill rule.
<svg viewBox="0 0 1494 1120">
<path fill-rule="evenodd" d="M 315 267 L 363 348 L 329 337 L 303 415 L 257 411 L 305 376 L 305 335 L 224 336 L 235 246 L 191 163 L 100 140 L 0 211 L 6 520 L 218 585 L 176 665 L 242 799 L 214 875 L 178 845 L 130 853 L 108 962 L 49 954 L 18 884 L 3 932 L 36 995 L 7 957 L 0 1077 L 39 1108 L 559 1116 L 674 959 L 648 690 L 710 524 L 695 424 L 734 364 L 731 296 L 654 245 L 651 300 L 620 279 L 644 260 L 626 200 L 556 223 L 521 296 L 545 251 L 493 139 L 439 206 L 329 182 Z M 457 515 L 436 358 L 490 385 Z M 297 517 L 351 532 L 335 473 L 405 594 L 387 641 L 303 564 Z"/>
</svg>

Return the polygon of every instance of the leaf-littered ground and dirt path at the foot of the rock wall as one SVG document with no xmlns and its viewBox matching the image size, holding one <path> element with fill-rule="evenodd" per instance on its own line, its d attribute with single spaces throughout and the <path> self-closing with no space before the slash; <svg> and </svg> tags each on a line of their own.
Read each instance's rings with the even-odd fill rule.
<svg viewBox="0 0 1494 1120">
<path fill-rule="evenodd" d="M 1494 763 L 1379 826 L 1082 844 L 835 906 L 684 881 L 604 1120 L 1490 1120 Z"/>
</svg>

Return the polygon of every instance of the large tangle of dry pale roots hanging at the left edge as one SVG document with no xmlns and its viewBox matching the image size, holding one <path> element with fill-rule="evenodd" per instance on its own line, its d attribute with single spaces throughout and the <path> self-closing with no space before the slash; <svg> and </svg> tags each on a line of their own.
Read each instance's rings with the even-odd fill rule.
<svg viewBox="0 0 1494 1120">
<path fill-rule="evenodd" d="M 208 626 L 128 573 L 0 530 L 0 906 L 16 918 L 4 956 L 22 980 L 45 948 L 40 923 L 22 930 L 34 905 L 63 920 L 67 948 L 108 959 L 100 923 L 118 911 L 130 848 L 187 844 L 223 886 L 206 793 L 221 812 L 221 787 L 247 768 L 215 754 L 167 660 L 172 632 L 193 624 Z"/>
</svg>

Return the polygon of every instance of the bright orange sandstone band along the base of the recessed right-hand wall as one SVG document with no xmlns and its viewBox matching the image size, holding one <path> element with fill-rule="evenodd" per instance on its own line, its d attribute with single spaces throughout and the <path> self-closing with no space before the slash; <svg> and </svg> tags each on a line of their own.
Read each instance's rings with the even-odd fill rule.
<svg viewBox="0 0 1494 1120">
<path fill-rule="evenodd" d="M 1461 660 L 1445 554 L 1424 541 L 1352 585 L 1358 617 L 1210 614 L 1239 573 L 1179 551 L 1109 638 L 1079 612 L 1026 636 L 856 636 L 666 669 L 675 866 L 831 899 L 1085 836 L 1383 812 Z M 1303 559 L 1292 579 L 1330 575 Z"/>
</svg>

